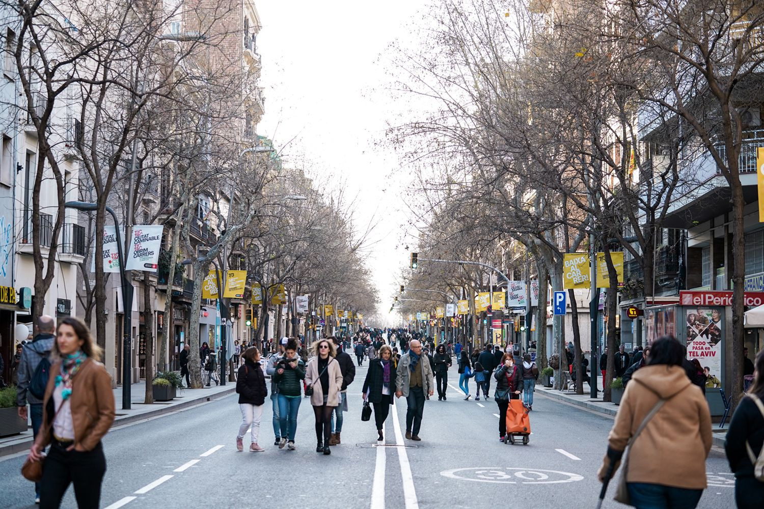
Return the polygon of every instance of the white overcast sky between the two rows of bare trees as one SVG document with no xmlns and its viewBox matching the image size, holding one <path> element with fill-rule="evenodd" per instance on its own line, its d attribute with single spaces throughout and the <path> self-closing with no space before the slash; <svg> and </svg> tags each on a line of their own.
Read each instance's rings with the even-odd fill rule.
<svg viewBox="0 0 764 509">
<path fill-rule="evenodd" d="M 374 143 L 384 137 L 386 121 L 397 111 L 390 98 L 385 67 L 387 47 L 410 37 L 421 2 L 257 2 L 263 25 L 257 38 L 262 56 L 261 85 L 265 115 L 259 133 L 274 139 L 290 156 L 305 157 L 314 173 L 346 184 L 356 197 L 355 226 L 379 221 L 373 234 L 374 254 L 368 266 L 386 314 L 407 263 L 403 246 L 396 249 L 406 221 L 400 205 L 405 176 L 397 157 Z M 419 14 L 421 20 L 421 14 Z M 291 140 L 291 141 L 290 141 Z M 393 174 L 394 172 L 394 174 Z"/>
</svg>

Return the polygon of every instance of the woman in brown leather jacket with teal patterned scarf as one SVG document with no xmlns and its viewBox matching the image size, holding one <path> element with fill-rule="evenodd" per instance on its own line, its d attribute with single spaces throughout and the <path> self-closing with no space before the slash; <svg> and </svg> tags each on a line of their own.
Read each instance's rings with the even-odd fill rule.
<svg viewBox="0 0 764 509">
<path fill-rule="evenodd" d="M 79 318 L 60 318 L 51 356 L 53 364 L 43 399 L 43 424 L 29 451 L 39 461 L 50 445 L 40 480 L 40 507 L 60 507 L 74 484 L 80 509 L 96 509 L 106 472 L 102 437 L 115 417 L 112 379 L 101 349 Z"/>
</svg>

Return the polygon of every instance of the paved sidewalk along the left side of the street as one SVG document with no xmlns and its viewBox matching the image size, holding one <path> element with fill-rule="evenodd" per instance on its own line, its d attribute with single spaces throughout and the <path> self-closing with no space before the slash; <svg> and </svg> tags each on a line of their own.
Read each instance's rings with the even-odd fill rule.
<svg viewBox="0 0 764 509">
<path fill-rule="evenodd" d="M 122 386 L 118 385 L 114 389 L 114 401 L 116 407 L 116 418 L 113 426 L 134 423 L 138 420 L 157 417 L 162 414 L 178 411 L 183 408 L 189 408 L 193 405 L 211 401 L 212 399 L 222 398 L 236 390 L 236 382 L 226 382 L 225 386 L 212 385 L 200 389 L 181 389 L 178 395 L 171 401 L 157 401 L 154 404 L 144 404 L 146 393 L 146 382 L 138 382 L 131 385 L 130 391 L 130 410 L 122 410 Z M 0 438 L 0 456 L 18 453 L 29 449 L 32 444 L 31 421 L 25 433 L 11 435 L 10 437 Z"/>
</svg>

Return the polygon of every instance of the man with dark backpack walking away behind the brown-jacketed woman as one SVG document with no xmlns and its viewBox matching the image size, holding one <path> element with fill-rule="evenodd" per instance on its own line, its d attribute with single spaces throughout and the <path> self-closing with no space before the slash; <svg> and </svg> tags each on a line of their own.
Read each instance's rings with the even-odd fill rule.
<svg viewBox="0 0 764 509">
<path fill-rule="evenodd" d="M 24 345 L 21 350 L 21 361 L 18 365 L 18 385 L 16 387 L 16 405 L 18 406 L 18 416 L 27 421 L 28 417 L 32 421 L 32 437 L 37 438 L 40 431 L 40 425 L 43 422 L 43 397 L 44 394 L 32 394 L 29 387 L 32 377 L 37 372 L 37 366 L 45 359 L 50 362 L 50 353 L 56 343 L 56 320 L 44 314 L 37 319 L 37 336 L 31 343 Z M 50 372 L 50 371 L 49 371 Z M 111 387 L 111 384 L 109 385 Z M 111 390 L 111 389 L 110 389 Z M 27 411 L 29 403 L 29 411 Z M 40 503 L 40 483 L 34 483 L 34 502 Z"/>
</svg>

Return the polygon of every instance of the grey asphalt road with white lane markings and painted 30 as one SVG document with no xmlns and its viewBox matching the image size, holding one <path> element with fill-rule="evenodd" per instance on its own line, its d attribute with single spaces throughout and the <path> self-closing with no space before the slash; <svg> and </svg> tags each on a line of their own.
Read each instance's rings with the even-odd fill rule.
<svg viewBox="0 0 764 509">
<path fill-rule="evenodd" d="M 494 401 L 463 401 L 452 369 L 448 401 L 426 402 L 422 442 L 403 440 L 400 400 L 377 446 L 374 418 L 361 422 L 366 365 L 350 386 L 342 445 L 316 453 L 313 413 L 300 406 L 296 451 L 273 445 L 270 400 L 260 443 L 264 453 L 235 449 L 236 395 L 112 430 L 104 439 L 108 471 L 102 507 L 594 507 L 595 473 L 612 419 L 537 397 L 527 446 L 498 441 Z M 474 382 L 471 383 L 474 394 Z M 539 391 L 536 391 L 539 395 Z M 397 416 L 398 429 L 393 417 Z M 23 456 L 0 460 L 0 507 L 34 507 L 34 488 L 19 473 Z M 709 488 L 698 507 L 734 507 L 733 477 L 723 453 L 707 460 Z M 612 501 L 604 507 L 624 507 Z M 118 504 L 123 504 L 119 506 Z M 62 507 L 76 507 L 73 491 Z"/>
</svg>

